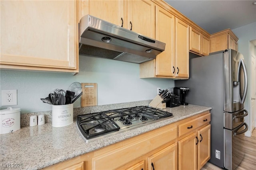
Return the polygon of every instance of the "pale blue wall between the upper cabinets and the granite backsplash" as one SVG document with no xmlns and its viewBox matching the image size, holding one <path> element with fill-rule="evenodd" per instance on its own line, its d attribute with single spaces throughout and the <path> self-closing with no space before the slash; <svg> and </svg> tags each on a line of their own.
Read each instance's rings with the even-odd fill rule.
<svg viewBox="0 0 256 170">
<path fill-rule="evenodd" d="M 18 89 L 18 107 L 22 113 L 49 111 L 44 104 L 52 88 L 66 90 L 72 82 L 97 83 L 98 105 L 151 100 L 157 88 L 174 87 L 172 79 L 139 78 L 139 64 L 80 56 L 79 73 L 0 70 L 1 90 Z M 1 106 L 6 109 L 7 106 Z M 80 99 L 74 107 L 81 107 Z"/>
</svg>

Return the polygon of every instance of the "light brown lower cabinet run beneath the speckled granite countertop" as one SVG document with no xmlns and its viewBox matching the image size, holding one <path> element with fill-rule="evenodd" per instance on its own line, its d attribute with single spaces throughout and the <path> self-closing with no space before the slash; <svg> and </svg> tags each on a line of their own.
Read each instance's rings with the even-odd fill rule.
<svg viewBox="0 0 256 170">
<path fill-rule="evenodd" d="M 205 111 L 45 170 L 196 170 L 209 159 L 210 112 Z"/>
</svg>

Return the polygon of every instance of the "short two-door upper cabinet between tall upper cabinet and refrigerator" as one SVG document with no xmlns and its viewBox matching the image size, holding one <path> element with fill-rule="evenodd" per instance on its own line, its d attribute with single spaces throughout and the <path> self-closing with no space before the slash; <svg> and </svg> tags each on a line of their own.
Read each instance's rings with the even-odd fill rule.
<svg viewBox="0 0 256 170">
<path fill-rule="evenodd" d="M 210 38 L 190 26 L 189 50 L 199 55 L 209 55 Z"/>
</svg>

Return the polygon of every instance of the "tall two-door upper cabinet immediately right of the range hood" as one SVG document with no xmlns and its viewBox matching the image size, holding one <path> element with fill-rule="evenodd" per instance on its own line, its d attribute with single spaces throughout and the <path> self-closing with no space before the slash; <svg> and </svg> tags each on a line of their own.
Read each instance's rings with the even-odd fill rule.
<svg viewBox="0 0 256 170">
<path fill-rule="evenodd" d="M 140 64 L 140 78 L 188 78 L 189 25 L 156 6 L 156 39 L 166 43 L 165 50 Z"/>
</svg>

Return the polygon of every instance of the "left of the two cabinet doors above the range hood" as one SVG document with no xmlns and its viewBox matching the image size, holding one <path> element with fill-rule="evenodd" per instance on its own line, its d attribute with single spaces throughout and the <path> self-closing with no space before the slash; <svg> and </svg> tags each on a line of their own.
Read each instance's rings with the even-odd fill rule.
<svg viewBox="0 0 256 170">
<path fill-rule="evenodd" d="M 122 26 L 124 0 L 82 0 L 81 17 L 86 14 Z"/>
</svg>

